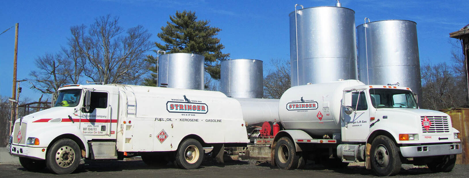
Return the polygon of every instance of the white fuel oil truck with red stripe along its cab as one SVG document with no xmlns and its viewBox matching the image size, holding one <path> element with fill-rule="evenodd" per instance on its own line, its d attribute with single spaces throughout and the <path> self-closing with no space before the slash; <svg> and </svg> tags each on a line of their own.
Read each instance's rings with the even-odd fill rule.
<svg viewBox="0 0 469 178">
<path fill-rule="evenodd" d="M 240 103 L 221 92 L 121 84 L 61 87 L 53 107 L 17 119 L 12 136 L 24 168 L 57 174 L 83 158 L 132 156 L 194 169 L 203 147 L 249 142 Z"/>
</svg>

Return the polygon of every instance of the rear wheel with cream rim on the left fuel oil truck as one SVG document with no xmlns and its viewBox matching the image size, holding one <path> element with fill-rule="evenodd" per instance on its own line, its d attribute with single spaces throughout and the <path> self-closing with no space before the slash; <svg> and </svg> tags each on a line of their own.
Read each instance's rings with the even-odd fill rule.
<svg viewBox="0 0 469 178">
<path fill-rule="evenodd" d="M 176 164 L 182 169 L 196 169 L 204 159 L 204 149 L 199 141 L 187 139 L 182 141 L 176 151 Z"/>
</svg>

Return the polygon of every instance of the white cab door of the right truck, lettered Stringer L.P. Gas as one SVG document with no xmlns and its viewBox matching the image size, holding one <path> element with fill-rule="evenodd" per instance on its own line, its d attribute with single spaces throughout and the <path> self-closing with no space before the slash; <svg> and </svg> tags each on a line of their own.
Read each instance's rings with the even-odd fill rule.
<svg viewBox="0 0 469 178">
<path fill-rule="evenodd" d="M 345 91 L 342 106 L 342 141 L 364 141 L 370 133 L 370 107 L 366 90 Z M 345 110 L 352 112 L 347 114 Z"/>
</svg>

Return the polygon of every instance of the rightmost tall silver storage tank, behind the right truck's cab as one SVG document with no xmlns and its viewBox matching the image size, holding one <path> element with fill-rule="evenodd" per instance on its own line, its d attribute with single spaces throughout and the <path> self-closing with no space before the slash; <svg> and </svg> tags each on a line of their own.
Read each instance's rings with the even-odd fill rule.
<svg viewBox="0 0 469 178">
<path fill-rule="evenodd" d="M 369 85 L 399 82 L 422 96 L 416 22 L 368 22 L 356 31 L 360 81 Z"/>
</svg>

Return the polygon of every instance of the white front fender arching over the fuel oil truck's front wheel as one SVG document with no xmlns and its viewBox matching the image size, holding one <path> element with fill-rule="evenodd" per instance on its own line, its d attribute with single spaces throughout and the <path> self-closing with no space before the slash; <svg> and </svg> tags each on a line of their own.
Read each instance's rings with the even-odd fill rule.
<svg viewBox="0 0 469 178">
<path fill-rule="evenodd" d="M 86 151 L 85 157 L 90 156 L 90 149 L 88 148 L 86 138 L 80 132 L 78 127 L 74 125 L 64 126 L 64 125 L 50 124 L 48 126 L 40 127 L 38 129 L 34 129 L 34 130 L 31 129 L 30 132 L 28 133 L 28 137 L 36 137 L 39 139 L 39 145 L 35 147 L 48 147 L 51 144 L 51 141 L 53 141 L 55 138 L 63 134 L 72 134 L 78 137 L 82 141 L 85 147 L 85 151 Z M 77 143 L 77 144 L 80 144 L 80 143 Z"/>
</svg>

